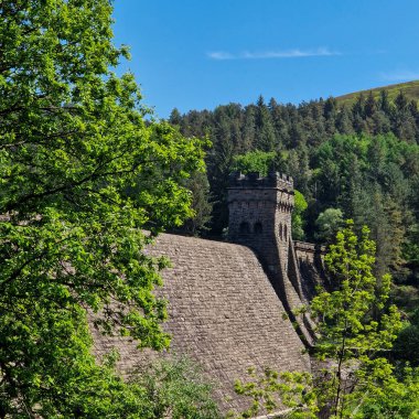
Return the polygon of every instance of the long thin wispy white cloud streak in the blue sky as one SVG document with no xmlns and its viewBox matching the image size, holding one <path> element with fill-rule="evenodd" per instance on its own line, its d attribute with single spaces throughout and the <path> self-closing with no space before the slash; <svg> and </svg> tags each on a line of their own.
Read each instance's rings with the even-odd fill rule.
<svg viewBox="0 0 419 419">
<path fill-rule="evenodd" d="M 237 54 L 227 51 L 214 51 L 206 54 L 212 60 L 269 60 L 269 58 L 301 58 L 308 56 L 331 56 L 341 55 L 339 52 L 330 51 L 326 47 L 315 50 L 283 50 L 283 51 L 244 51 Z"/>
</svg>

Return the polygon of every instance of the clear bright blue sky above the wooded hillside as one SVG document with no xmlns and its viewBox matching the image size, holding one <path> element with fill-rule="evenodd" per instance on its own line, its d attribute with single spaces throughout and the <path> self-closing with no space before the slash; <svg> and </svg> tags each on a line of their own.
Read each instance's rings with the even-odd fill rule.
<svg viewBox="0 0 419 419">
<path fill-rule="evenodd" d="M 116 0 L 144 104 L 299 104 L 419 79 L 417 0 Z"/>
</svg>

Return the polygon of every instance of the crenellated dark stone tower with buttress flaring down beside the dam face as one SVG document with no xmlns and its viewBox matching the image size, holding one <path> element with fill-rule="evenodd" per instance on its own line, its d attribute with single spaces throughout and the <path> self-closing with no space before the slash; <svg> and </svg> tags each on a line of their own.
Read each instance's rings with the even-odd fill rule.
<svg viewBox="0 0 419 419">
<path fill-rule="evenodd" d="M 228 187 L 228 239 L 253 248 L 290 319 L 299 324 L 300 336 L 312 342 L 312 322 L 294 314 L 307 298 L 291 236 L 294 207 L 292 178 L 270 172 L 232 173 Z"/>
</svg>

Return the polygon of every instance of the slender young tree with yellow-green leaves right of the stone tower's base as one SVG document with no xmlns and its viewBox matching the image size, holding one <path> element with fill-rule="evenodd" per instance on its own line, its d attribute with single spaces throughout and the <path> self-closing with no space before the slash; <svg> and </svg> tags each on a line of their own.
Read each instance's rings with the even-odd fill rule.
<svg viewBox="0 0 419 419">
<path fill-rule="evenodd" d="M 395 305 L 388 307 L 390 277 L 375 278 L 375 243 L 363 228 L 361 239 L 353 223 L 336 235 L 325 256 L 333 290 L 314 297 L 310 309 L 318 319 L 315 353 L 331 361 L 326 404 L 332 417 L 348 417 L 365 391 L 373 391 L 391 374 L 377 353 L 389 351 L 401 327 Z"/>
</svg>

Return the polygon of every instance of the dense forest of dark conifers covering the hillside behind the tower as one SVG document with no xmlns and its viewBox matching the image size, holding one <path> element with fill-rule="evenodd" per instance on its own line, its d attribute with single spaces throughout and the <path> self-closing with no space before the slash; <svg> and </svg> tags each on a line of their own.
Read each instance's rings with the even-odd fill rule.
<svg viewBox="0 0 419 419">
<path fill-rule="evenodd" d="M 395 100 L 385 90 L 377 97 L 370 92 L 351 106 L 334 98 L 299 106 L 271 98 L 267 105 L 260 96 L 245 107 L 229 104 L 185 115 L 174 109 L 170 121 L 183 135 L 208 136 L 213 143 L 206 157 L 211 235 L 227 227 L 226 189 L 235 157 L 275 152 L 272 168 L 292 175 L 309 203 L 308 239 L 318 237 L 320 213 L 340 208 L 344 217 L 370 226 L 379 271 L 399 276 L 405 260 L 416 266 L 419 111 L 402 92 Z"/>
</svg>

